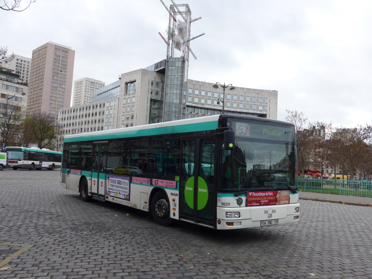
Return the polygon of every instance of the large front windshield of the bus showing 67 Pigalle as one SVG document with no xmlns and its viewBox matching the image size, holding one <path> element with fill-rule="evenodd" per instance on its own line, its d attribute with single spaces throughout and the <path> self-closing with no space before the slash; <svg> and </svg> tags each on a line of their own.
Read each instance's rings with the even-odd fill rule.
<svg viewBox="0 0 372 279">
<path fill-rule="evenodd" d="M 230 124 L 235 131 L 235 149 L 221 148 L 219 192 L 293 189 L 296 168 L 294 128 L 237 121 Z"/>
</svg>

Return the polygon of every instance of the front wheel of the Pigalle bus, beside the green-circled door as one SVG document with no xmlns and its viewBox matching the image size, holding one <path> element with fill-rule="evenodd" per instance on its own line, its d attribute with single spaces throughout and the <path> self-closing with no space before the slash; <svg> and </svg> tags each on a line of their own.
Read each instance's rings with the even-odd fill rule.
<svg viewBox="0 0 372 279">
<path fill-rule="evenodd" d="M 151 214 L 155 222 L 162 226 L 169 226 L 173 223 L 174 219 L 169 217 L 170 206 L 168 198 L 163 191 L 155 193 L 151 201 Z"/>
</svg>

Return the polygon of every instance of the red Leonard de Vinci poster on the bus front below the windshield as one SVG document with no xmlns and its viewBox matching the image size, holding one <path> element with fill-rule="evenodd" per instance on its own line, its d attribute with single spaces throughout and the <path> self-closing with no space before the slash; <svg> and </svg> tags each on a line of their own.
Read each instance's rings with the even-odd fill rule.
<svg viewBox="0 0 372 279">
<path fill-rule="evenodd" d="M 247 206 L 279 205 L 289 203 L 289 190 L 257 191 L 247 193 Z"/>
</svg>

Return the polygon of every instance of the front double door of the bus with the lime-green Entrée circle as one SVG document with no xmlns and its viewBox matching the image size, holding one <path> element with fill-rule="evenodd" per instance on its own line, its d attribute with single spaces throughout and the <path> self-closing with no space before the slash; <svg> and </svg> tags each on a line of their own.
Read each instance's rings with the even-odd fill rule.
<svg viewBox="0 0 372 279">
<path fill-rule="evenodd" d="M 215 140 L 182 140 L 180 218 L 214 225 Z"/>
</svg>

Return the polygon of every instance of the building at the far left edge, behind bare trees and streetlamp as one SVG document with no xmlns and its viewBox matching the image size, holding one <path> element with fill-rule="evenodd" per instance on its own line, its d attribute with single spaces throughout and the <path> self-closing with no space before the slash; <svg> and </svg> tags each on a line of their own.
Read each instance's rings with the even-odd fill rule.
<svg viewBox="0 0 372 279">
<path fill-rule="evenodd" d="M 0 70 L 0 149 L 4 148 L 4 138 L 8 144 L 15 143 L 14 135 L 7 135 L 8 125 L 19 124 L 26 112 L 28 86 L 13 72 L 7 68 Z"/>
</svg>

